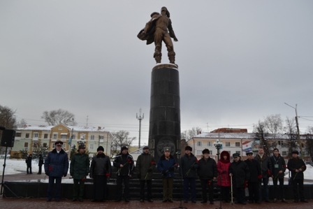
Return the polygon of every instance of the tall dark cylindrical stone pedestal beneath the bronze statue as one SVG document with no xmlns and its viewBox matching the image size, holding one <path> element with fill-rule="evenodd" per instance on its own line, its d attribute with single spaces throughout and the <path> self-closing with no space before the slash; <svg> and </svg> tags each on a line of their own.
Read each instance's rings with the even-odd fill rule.
<svg viewBox="0 0 313 209">
<path fill-rule="evenodd" d="M 170 147 L 175 159 L 175 152 L 180 151 L 180 81 L 175 64 L 158 64 L 152 69 L 149 147 L 156 163 L 163 147 Z"/>
</svg>

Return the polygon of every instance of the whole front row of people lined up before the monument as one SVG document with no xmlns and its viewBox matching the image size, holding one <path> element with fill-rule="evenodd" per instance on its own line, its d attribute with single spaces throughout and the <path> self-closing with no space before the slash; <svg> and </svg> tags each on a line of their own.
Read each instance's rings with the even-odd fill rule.
<svg viewBox="0 0 313 209">
<path fill-rule="evenodd" d="M 49 152 L 45 159 L 45 174 L 49 176 L 48 199 L 52 200 L 52 189 L 54 181 L 56 184 L 54 198 L 60 199 L 61 178 L 66 177 L 68 172 L 68 156 L 61 149 L 63 143 L 58 141 L 54 143 L 55 149 Z M 72 201 L 83 201 L 85 179 L 87 175 L 94 180 L 94 199 L 92 201 L 105 201 L 107 193 L 107 179 L 112 173 L 110 158 L 104 153 L 102 146 L 97 149 L 97 154 L 92 158 L 90 165 L 89 156 L 85 154 L 85 145 L 78 147 L 78 153 L 71 159 L 70 175 L 73 177 L 73 199 Z M 249 190 L 249 203 L 277 202 L 280 200 L 286 203 L 284 199 L 284 173 L 286 168 L 291 171 L 291 180 L 293 182 L 294 201 L 307 203 L 303 195 L 303 172 L 306 169 L 305 163 L 298 157 L 298 151 L 292 152 L 292 158 L 289 159 L 286 166 L 284 158 L 280 156 L 279 150 L 273 150 L 272 157 L 264 153 L 263 147 L 259 148 L 258 154 L 254 157 L 253 152 L 247 152 L 245 161 L 242 161 L 240 154 L 233 154 L 233 162 L 229 152 L 223 151 L 220 159 L 216 161 L 210 157 L 210 150 L 204 149 L 203 156 L 197 159 L 192 154 L 192 147 L 185 147 L 185 153 L 180 159 L 180 174 L 183 179 L 183 199 L 184 203 L 189 201 L 189 191 L 191 193 L 190 201 L 196 203 L 196 178 L 201 180 L 202 201 L 201 203 L 214 203 L 213 181 L 221 188 L 221 201 L 229 203 L 231 194 L 235 194 L 235 203 L 246 204 L 245 188 Z M 175 170 L 178 168 L 177 161 L 170 154 L 170 147 L 164 147 L 164 153 L 156 163 L 154 157 L 149 153 L 149 147 L 143 147 L 143 153 L 140 154 L 134 165 L 133 157 L 128 152 L 127 147 L 122 147 L 121 152 L 117 154 L 113 161 L 113 166 L 117 168 L 117 194 L 115 201 L 122 201 L 124 190 L 124 201 L 129 202 L 129 180 L 133 173 L 137 173 L 140 180 L 140 202 L 152 200 L 152 178 L 154 168 L 161 173 L 163 182 L 163 203 L 173 203 L 173 180 Z M 31 172 L 31 171 L 30 171 Z M 272 178 L 274 185 L 274 200 L 270 201 L 268 196 L 268 180 Z M 262 194 L 262 182 L 263 192 Z M 277 192 L 279 182 L 279 192 Z M 124 183 L 124 189 L 123 189 Z M 147 185 L 147 196 L 145 197 L 145 185 Z M 190 189 L 190 190 L 189 190 Z M 208 189 L 208 194 L 207 194 Z"/>
</svg>

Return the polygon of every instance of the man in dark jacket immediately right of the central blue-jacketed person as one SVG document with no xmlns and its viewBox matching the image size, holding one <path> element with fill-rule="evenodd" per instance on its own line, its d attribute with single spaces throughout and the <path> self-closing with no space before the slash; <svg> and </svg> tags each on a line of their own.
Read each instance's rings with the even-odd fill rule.
<svg viewBox="0 0 313 209">
<path fill-rule="evenodd" d="M 184 179 L 184 203 L 188 203 L 189 187 L 191 192 L 191 202 L 196 203 L 196 169 L 198 168 L 198 159 L 192 154 L 192 148 L 184 148 L 185 154 L 180 159 L 180 168 L 182 169 L 182 178 Z"/>
</svg>

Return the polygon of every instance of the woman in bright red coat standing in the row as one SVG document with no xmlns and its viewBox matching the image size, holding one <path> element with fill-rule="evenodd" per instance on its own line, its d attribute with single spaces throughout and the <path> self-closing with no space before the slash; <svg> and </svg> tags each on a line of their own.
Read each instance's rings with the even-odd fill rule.
<svg viewBox="0 0 313 209">
<path fill-rule="evenodd" d="M 229 176 L 229 166 L 231 165 L 231 156 L 229 152 L 221 152 L 219 161 L 217 162 L 217 185 L 221 187 L 221 201 L 223 203 L 230 201 L 231 177 Z"/>
</svg>

